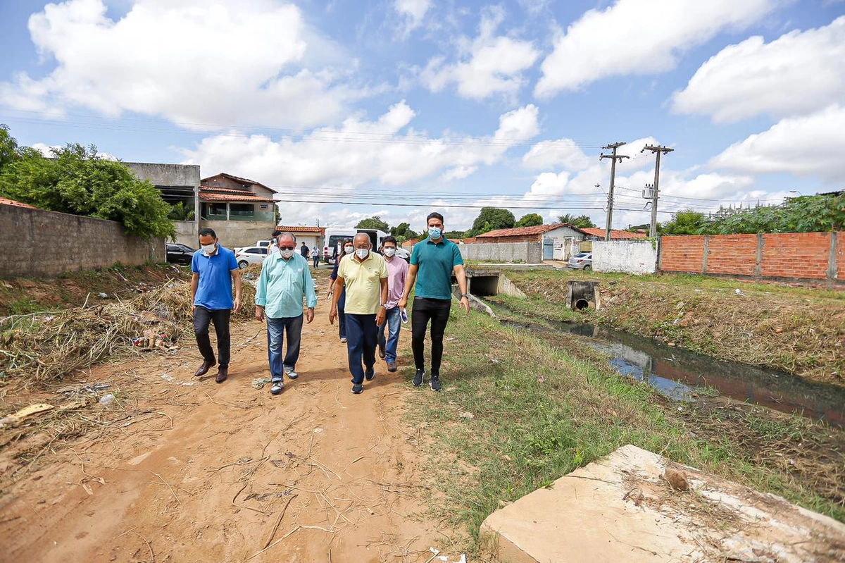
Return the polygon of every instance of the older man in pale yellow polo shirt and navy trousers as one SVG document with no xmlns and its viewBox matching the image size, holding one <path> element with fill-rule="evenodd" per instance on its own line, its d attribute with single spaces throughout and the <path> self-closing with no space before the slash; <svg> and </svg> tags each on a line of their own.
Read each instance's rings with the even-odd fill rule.
<svg viewBox="0 0 845 563">
<path fill-rule="evenodd" d="M 337 268 L 329 322 L 335 324 L 337 300 L 346 284 L 346 353 L 352 392 L 357 395 L 364 390 L 364 380 L 372 380 L 375 375 L 375 347 L 379 342 L 379 326 L 384 324 L 382 303 L 387 303 L 388 274 L 384 258 L 372 252 L 366 232 L 355 235 L 352 246 L 355 254 L 344 257 Z"/>
</svg>

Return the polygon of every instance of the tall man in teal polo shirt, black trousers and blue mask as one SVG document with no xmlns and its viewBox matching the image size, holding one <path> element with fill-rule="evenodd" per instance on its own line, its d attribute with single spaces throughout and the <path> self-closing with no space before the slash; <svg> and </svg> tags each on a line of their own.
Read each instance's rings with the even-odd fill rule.
<svg viewBox="0 0 845 563">
<path fill-rule="evenodd" d="M 443 236 L 443 216 L 431 213 L 426 218 L 428 238 L 414 244 L 411 267 L 405 282 L 405 292 L 397 305 L 404 309 L 408 295 L 417 282 L 411 319 L 411 348 L 417 372 L 413 384 L 423 385 L 425 379 L 425 333 L 431 320 L 431 390 L 440 391 L 440 361 L 443 358 L 443 335 L 449 322 L 452 305 L 452 272 L 461 289 L 461 309 L 470 313 L 466 297 L 466 272 L 461 249 Z"/>
</svg>

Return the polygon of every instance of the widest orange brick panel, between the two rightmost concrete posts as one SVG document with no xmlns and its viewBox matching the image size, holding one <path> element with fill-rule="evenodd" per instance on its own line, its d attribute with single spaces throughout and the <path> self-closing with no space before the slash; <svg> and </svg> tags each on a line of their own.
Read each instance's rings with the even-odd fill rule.
<svg viewBox="0 0 845 563">
<path fill-rule="evenodd" d="M 783 232 L 763 235 L 763 263 L 760 275 L 766 277 L 827 276 L 829 232 Z"/>
</svg>

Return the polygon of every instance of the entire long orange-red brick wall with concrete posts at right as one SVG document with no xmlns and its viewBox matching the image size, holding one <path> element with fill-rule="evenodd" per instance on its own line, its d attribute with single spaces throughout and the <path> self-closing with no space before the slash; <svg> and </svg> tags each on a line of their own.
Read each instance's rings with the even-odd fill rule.
<svg viewBox="0 0 845 563">
<path fill-rule="evenodd" d="M 842 282 L 845 232 L 661 237 L 659 269 Z"/>
</svg>

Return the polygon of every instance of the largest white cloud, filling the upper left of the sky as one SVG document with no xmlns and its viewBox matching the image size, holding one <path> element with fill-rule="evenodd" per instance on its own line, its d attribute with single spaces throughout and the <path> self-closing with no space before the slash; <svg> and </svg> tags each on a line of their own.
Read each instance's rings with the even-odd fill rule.
<svg viewBox="0 0 845 563">
<path fill-rule="evenodd" d="M 307 68 L 338 54 L 292 4 L 138 0 L 114 21 L 101 0 L 68 0 L 47 4 L 29 27 L 42 60 L 57 66 L 42 79 L 18 74 L 0 83 L 7 107 L 309 127 L 366 95 L 346 84 L 354 63 L 343 71 Z"/>
</svg>

